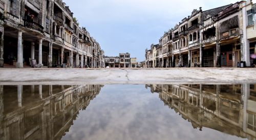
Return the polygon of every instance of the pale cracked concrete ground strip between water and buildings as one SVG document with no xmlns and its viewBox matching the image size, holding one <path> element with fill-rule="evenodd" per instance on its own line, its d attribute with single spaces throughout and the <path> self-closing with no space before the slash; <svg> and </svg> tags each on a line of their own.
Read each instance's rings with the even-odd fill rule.
<svg viewBox="0 0 256 140">
<path fill-rule="evenodd" d="M 0 69 L 0 85 L 256 83 L 256 68 Z"/>
</svg>

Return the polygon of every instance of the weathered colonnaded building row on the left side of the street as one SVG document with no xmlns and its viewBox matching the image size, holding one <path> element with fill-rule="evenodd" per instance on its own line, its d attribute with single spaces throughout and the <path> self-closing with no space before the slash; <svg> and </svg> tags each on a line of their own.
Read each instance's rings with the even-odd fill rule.
<svg viewBox="0 0 256 140">
<path fill-rule="evenodd" d="M 0 17 L 0 67 L 101 67 L 99 43 L 61 0 L 2 0 Z"/>
</svg>

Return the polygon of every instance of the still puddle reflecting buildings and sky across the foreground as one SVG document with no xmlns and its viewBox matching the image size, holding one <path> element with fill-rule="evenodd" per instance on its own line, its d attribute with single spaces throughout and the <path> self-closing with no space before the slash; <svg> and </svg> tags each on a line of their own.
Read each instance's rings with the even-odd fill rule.
<svg viewBox="0 0 256 140">
<path fill-rule="evenodd" d="M 256 85 L 0 86 L 0 139 L 255 139 Z"/>
</svg>

